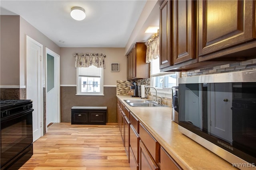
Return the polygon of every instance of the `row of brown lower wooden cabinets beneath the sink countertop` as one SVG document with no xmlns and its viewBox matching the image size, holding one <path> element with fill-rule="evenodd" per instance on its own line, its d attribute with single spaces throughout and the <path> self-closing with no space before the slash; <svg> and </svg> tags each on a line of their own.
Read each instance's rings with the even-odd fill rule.
<svg viewBox="0 0 256 170">
<path fill-rule="evenodd" d="M 120 100 L 117 102 L 118 125 L 130 163 L 130 169 L 182 170 L 146 127 L 130 112 L 128 107 L 119 102 Z"/>
</svg>

